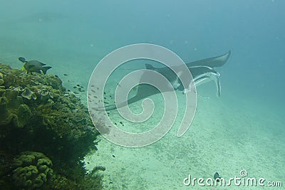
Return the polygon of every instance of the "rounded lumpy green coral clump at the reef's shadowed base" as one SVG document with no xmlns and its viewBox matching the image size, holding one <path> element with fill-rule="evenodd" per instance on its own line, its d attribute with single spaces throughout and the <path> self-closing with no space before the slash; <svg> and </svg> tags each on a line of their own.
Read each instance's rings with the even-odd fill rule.
<svg viewBox="0 0 285 190">
<path fill-rule="evenodd" d="M 21 188 L 39 188 L 53 176 L 51 159 L 41 152 L 22 152 L 12 166 L 14 182 Z"/>
</svg>

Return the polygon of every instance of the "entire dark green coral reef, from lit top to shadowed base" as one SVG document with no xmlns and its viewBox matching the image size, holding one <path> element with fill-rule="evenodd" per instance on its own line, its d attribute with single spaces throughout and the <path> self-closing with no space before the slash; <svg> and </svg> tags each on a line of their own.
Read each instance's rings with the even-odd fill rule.
<svg viewBox="0 0 285 190">
<path fill-rule="evenodd" d="M 0 186 L 101 189 L 102 176 L 86 174 L 80 162 L 99 134 L 87 107 L 56 75 L 1 63 L 0 71 Z"/>
</svg>

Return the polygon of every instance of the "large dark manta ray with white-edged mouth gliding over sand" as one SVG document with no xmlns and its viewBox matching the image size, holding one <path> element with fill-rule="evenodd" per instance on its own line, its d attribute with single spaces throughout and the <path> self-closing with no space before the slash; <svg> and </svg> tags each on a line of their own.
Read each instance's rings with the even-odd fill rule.
<svg viewBox="0 0 285 190">
<path fill-rule="evenodd" d="M 224 63 L 227 62 L 229 59 L 229 56 L 231 54 L 231 51 L 228 51 L 222 56 L 217 56 L 213 58 L 206 58 L 202 60 L 196 60 L 191 63 L 187 63 L 187 68 L 190 70 L 190 73 L 192 74 L 193 81 L 195 82 L 195 85 L 201 85 L 204 83 L 207 83 L 211 80 L 214 80 L 214 83 L 217 85 L 217 96 L 219 97 L 221 95 L 221 84 L 219 82 L 219 73 L 214 70 L 214 68 L 221 67 L 224 65 Z M 162 67 L 162 68 L 155 68 L 152 65 L 145 64 L 145 67 L 149 70 L 155 70 L 157 73 L 162 74 L 167 78 L 167 80 L 170 81 L 173 88 L 175 90 L 180 90 L 182 92 L 186 92 L 187 88 L 185 88 L 181 81 L 179 80 L 179 76 L 177 76 L 171 68 L 168 67 Z M 170 88 L 170 90 L 173 90 L 173 88 Z M 137 94 L 130 99 L 128 99 L 127 102 L 119 102 L 116 105 L 108 105 L 105 107 L 97 107 L 95 110 L 115 110 L 117 108 L 123 107 L 125 105 L 130 105 L 133 102 L 138 102 L 139 100 L 145 99 L 146 97 L 149 97 L 150 95 L 155 95 L 157 93 L 160 93 L 159 90 L 152 87 L 151 85 L 146 84 L 140 84 L 138 85 Z"/>
</svg>

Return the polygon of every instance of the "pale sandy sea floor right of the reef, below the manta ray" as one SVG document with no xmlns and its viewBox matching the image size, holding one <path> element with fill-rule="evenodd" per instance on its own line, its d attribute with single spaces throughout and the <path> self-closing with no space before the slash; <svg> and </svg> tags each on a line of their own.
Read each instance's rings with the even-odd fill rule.
<svg viewBox="0 0 285 190">
<path fill-rule="evenodd" d="M 284 180 L 281 168 L 285 164 L 285 130 L 281 116 L 267 111 L 258 101 L 237 97 L 230 91 L 219 98 L 198 97 L 195 118 L 182 137 L 176 136 L 179 122 L 165 137 L 147 147 L 120 147 L 101 137 L 98 151 L 86 155 L 85 167 L 89 171 L 96 166 L 106 168 L 102 172 L 105 189 L 214 189 L 218 187 L 208 186 L 206 180 L 216 171 L 226 181 L 235 176 L 256 178 L 257 182 L 264 178 L 264 184 Z M 123 120 L 119 115 L 111 117 Z M 125 129 L 143 125 L 127 122 Z M 242 170 L 247 176 L 240 176 Z M 189 175 L 192 179 L 203 178 L 205 186 L 197 181 L 194 186 L 185 186 L 183 181 Z M 233 181 L 231 186 L 222 187 L 241 188 L 245 187 Z M 258 184 L 247 187 L 262 188 Z"/>
</svg>

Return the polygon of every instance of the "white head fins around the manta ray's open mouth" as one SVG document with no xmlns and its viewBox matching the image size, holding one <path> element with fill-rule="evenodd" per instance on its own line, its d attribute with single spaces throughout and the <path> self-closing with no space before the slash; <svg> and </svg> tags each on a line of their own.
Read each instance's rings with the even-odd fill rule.
<svg viewBox="0 0 285 190">
<path fill-rule="evenodd" d="M 221 83 L 219 81 L 219 73 L 209 72 L 209 73 L 204 73 L 202 75 L 198 75 L 196 78 L 194 78 L 196 87 L 204 83 L 208 83 L 212 80 L 214 80 L 214 83 L 217 86 L 217 97 L 220 97 L 221 96 Z"/>
</svg>

